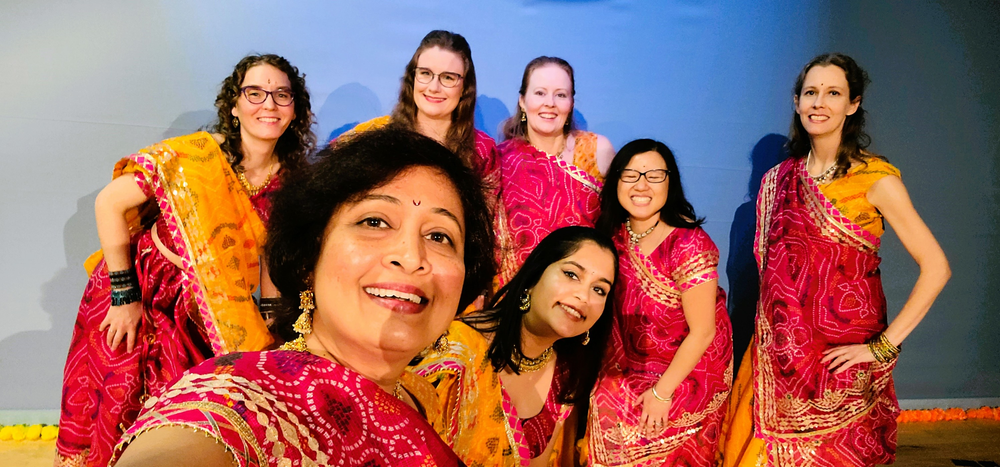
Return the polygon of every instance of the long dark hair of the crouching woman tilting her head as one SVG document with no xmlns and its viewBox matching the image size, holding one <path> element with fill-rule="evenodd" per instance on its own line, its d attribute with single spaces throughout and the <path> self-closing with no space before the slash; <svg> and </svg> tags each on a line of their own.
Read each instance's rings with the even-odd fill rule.
<svg viewBox="0 0 1000 467">
<path fill-rule="evenodd" d="M 513 355 L 521 354 L 521 321 L 524 312 L 520 310 L 521 295 L 538 284 L 542 273 L 549 265 L 576 253 L 586 242 L 593 242 L 614 256 L 615 277 L 618 277 L 618 250 L 607 235 L 590 227 L 563 227 L 550 233 L 528 255 L 521 269 L 493 297 L 489 306 L 481 313 L 462 318 L 470 326 L 480 332 L 493 333 L 486 356 L 493 369 L 497 372 L 510 368 L 517 373 L 517 365 Z M 559 339 L 553 348 L 557 358 L 565 362 L 569 368 L 569 378 L 562 387 L 559 401 L 564 404 L 587 402 L 590 390 L 597 382 L 599 362 L 604 357 L 608 336 L 611 333 L 612 313 L 614 309 L 614 290 L 606 297 L 604 313 L 590 328 L 590 342 L 583 345 L 584 336 Z"/>
</svg>

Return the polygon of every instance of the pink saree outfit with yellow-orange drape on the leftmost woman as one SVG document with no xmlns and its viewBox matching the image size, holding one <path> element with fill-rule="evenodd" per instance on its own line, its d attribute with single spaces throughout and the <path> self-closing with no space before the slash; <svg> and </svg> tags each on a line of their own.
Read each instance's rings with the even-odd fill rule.
<svg viewBox="0 0 1000 467">
<path fill-rule="evenodd" d="M 155 234 L 184 267 L 160 253 L 154 230 L 135 230 L 131 256 L 144 315 L 132 352 L 124 343 L 112 351 L 106 333 L 98 331 L 111 290 L 104 261 L 93 269 L 64 370 L 56 466 L 107 465 L 148 396 L 213 354 L 261 349 L 271 341 L 250 295 L 279 179 L 248 198 L 208 133 L 133 154 L 116 167 L 116 177 L 126 173 L 155 203 Z"/>
</svg>

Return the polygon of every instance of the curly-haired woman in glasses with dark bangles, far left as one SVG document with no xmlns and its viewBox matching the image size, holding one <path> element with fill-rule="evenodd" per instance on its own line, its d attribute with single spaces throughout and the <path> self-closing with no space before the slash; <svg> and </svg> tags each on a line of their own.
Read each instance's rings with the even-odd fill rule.
<svg viewBox="0 0 1000 467">
<path fill-rule="evenodd" d="M 271 196 L 315 144 L 309 93 L 284 58 L 250 55 L 215 106 L 213 133 L 122 159 L 97 196 L 101 251 L 85 265 L 56 465 L 107 465 L 147 397 L 212 355 L 272 343 L 260 247 Z"/>
</svg>

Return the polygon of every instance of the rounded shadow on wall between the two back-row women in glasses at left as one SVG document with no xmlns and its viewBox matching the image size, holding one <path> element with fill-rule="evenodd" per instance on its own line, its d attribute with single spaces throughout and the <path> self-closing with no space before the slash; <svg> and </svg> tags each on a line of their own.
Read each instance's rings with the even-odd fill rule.
<svg viewBox="0 0 1000 467">
<path fill-rule="evenodd" d="M 316 144 L 326 146 L 358 123 L 381 115 L 382 103 L 374 91 L 359 83 L 345 84 L 331 92 L 316 111 Z"/>
</svg>

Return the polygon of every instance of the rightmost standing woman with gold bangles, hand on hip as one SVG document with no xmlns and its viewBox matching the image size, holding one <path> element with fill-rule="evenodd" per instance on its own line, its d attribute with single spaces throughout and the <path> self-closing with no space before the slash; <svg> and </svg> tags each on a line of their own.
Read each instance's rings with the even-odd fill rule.
<svg viewBox="0 0 1000 467">
<path fill-rule="evenodd" d="M 795 81 L 789 157 L 764 175 L 754 255 L 754 342 L 733 386 L 726 466 L 891 464 L 903 339 L 948 281 L 948 260 L 900 172 L 868 151 L 865 73 L 810 61 Z M 920 267 L 889 322 L 878 255 L 885 222 Z"/>
</svg>

